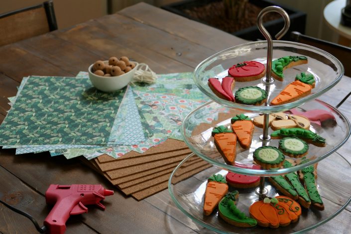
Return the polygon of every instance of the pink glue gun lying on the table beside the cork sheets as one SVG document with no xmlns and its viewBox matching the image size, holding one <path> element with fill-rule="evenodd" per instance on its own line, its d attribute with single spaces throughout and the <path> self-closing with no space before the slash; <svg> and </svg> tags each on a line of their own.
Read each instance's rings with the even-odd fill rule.
<svg viewBox="0 0 351 234">
<path fill-rule="evenodd" d="M 66 231 L 66 221 L 70 215 L 88 213 L 85 205 L 97 205 L 102 210 L 105 206 L 100 203 L 105 196 L 113 195 L 114 191 L 104 189 L 101 185 L 52 184 L 45 193 L 46 204 L 54 205 L 44 226 L 50 234 L 63 234 Z"/>
</svg>

